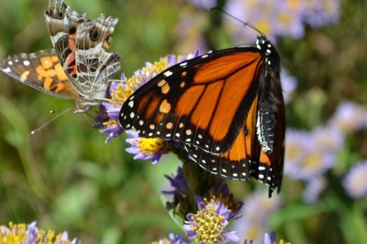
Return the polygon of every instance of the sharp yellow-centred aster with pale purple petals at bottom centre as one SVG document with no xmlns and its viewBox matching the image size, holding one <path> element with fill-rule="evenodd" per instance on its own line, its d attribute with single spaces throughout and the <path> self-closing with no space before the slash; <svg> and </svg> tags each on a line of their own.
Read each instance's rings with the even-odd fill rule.
<svg viewBox="0 0 367 244">
<path fill-rule="evenodd" d="M 219 200 L 199 202 L 198 212 L 188 214 L 183 228 L 189 238 L 194 238 L 199 243 L 226 243 L 238 242 L 236 231 L 224 231 L 231 216 L 231 210 Z"/>
</svg>

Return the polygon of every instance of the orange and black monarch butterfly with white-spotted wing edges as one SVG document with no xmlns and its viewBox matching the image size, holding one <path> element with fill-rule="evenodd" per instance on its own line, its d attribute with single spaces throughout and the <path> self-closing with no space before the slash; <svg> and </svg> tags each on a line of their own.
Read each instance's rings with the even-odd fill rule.
<svg viewBox="0 0 367 244">
<path fill-rule="evenodd" d="M 225 178 L 282 182 L 280 56 L 265 35 L 246 47 L 178 63 L 140 87 L 119 123 L 143 138 L 180 141 L 189 158 Z"/>
</svg>

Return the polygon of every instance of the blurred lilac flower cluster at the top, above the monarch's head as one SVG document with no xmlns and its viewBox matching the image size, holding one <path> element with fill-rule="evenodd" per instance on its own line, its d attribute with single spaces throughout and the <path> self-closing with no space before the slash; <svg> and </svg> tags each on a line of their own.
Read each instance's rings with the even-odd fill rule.
<svg viewBox="0 0 367 244">
<path fill-rule="evenodd" d="M 340 16 L 340 1 L 227 1 L 225 11 L 240 20 L 249 21 L 267 37 L 276 41 L 277 37 L 303 37 L 305 23 L 313 28 L 335 23 Z M 233 31 L 236 42 L 243 36 L 253 37 L 253 32 L 243 30 L 243 26 L 233 18 L 227 18 L 229 30 Z"/>
</svg>

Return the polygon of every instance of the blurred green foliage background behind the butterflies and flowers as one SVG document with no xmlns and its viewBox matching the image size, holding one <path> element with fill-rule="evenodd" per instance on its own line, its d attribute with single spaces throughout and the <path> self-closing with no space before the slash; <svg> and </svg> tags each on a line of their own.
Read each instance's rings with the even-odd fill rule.
<svg viewBox="0 0 367 244">
<path fill-rule="evenodd" d="M 48 1 L 0 0 L 0 4 L 1 59 L 52 48 L 43 16 Z M 66 4 L 90 18 L 100 13 L 119 18 L 110 49 L 121 54 L 121 72 L 127 76 L 146 61 L 169 53 L 188 54 L 203 33 L 208 49 L 240 44 L 231 42 L 227 30 L 215 21 L 217 13 L 197 10 L 186 1 L 70 0 Z M 303 94 L 310 90 L 325 95 L 317 113 L 306 107 L 299 116 L 296 109 L 288 108 L 289 126 L 312 128 L 344 99 L 367 104 L 366 14 L 366 1 L 342 1 L 337 24 L 306 28 L 303 39 L 278 42 L 283 66 L 298 80 L 295 96 L 306 99 Z M 182 16 L 191 16 L 188 30 L 180 25 Z M 128 146 L 124 137 L 105 145 L 105 135 L 90 126 L 93 121 L 88 115 L 64 114 L 30 135 L 54 118 L 50 110 L 61 111 L 73 102 L 33 90 L 4 73 L 0 81 L 0 224 L 36 220 L 41 228 L 67 230 L 83 243 L 147 243 L 169 231 L 179 232 L 159 198 L 160 190 L 167 188 L 162 175 L 174 173 L 179 164 L 174 155 L 165 155 L 155 166 L 133 161 L 133 155 L 124 150 Z M 366 132 L 353 142 L 354 159 L 367 159 Z M 247 183 L 231 184 L 239 194 L 243 194 L 241 188 L 247 189 Z M 285 178 L 282 191 L 291 201 L 292 190 L 297 189 L 289 185 Z M 366 208 L 362 213 L 366 221 Z M 323 240 L 321 230 L 328 229 L 323 224 L 307 243 Z M 308 231 L 309 226 L 302 234 L 311 235 L 312 230 Z M 340 238 L 337 229 L 330 233 L 336 235 L 330 240 Z M 284 239 L 292 242 L 287 236 Z"/>
</svg>

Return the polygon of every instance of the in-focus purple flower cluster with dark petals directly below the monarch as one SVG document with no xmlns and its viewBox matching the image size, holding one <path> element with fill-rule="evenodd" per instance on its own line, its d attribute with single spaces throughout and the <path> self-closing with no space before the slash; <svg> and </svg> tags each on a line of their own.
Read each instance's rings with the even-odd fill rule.
<svg viewBox="0 0 367 244">
<path fill-rule="evenodd" d="M 166 178 L 173 189 L 165 190 L 163 193 L 173 195 L 173 200 L 169 204 L 185 221 L 183 228 L 188 238 L 196 243 L 225 243 L 239 240 L 235 231 L 227 231 L 225 228 L 230 219 L 237 221 L 241 218 L 242 214 L 238 214 L 238 211 L 243 203 L 234 200 L 234 195 L 229 192 L 228 185 L 223 179 L 210 181 L 211 188 L 203 195 L 193 195 L 193 189 L 186 181 L 181 167 L 177 170 L 176 176 Z M 195 200 L 194 205 L 191 200 Z"/>
</svg>

